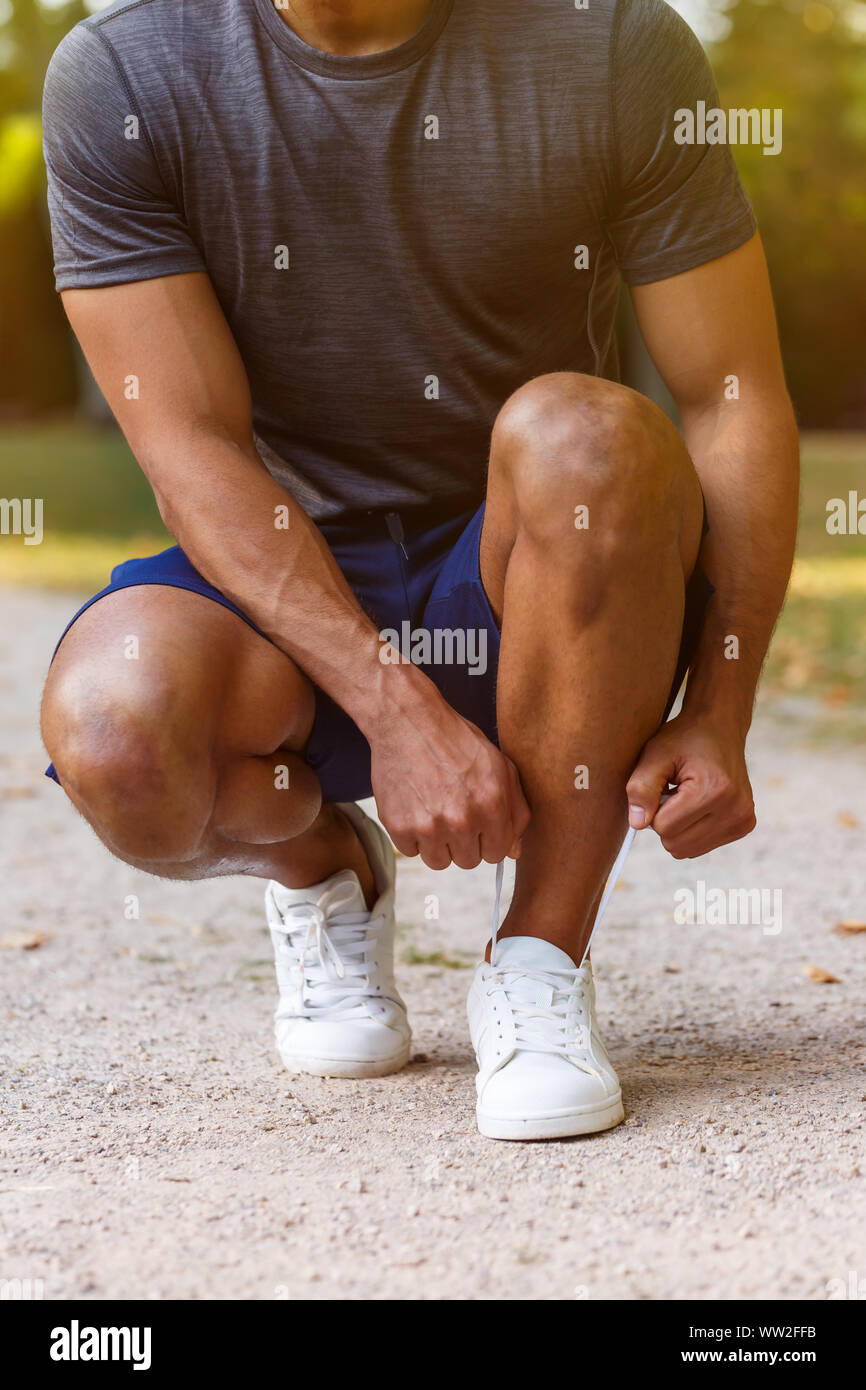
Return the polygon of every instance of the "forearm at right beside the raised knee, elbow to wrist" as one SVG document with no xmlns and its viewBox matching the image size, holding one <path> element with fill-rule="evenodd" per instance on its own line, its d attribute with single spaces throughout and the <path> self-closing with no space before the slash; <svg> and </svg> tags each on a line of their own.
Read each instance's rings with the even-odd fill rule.
<svg viewBox="0 0 866 1390">
<path fill-rule="evenodd" d="M 749 404 L 684 411 L 684 434 L 710 523 L 701 559 L 716 587 L 684 709 L 745 737 L 794 557 L 794 411 L 784 391 L 773 391 Z"/>
</svg>

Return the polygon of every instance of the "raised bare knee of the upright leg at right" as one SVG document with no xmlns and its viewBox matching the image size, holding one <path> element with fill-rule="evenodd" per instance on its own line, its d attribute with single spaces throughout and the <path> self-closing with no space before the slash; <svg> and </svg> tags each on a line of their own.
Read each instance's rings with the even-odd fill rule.
<svg viewBox="0 0 866 1390">
<path fill-rule="evenodd" d="M 509 473 L 524 527 L 550 539 L 584 521 L 599 545 L 639 539 L 644 530 L 657 538 L 659 516 L 667 510 L 673 523 L 673 493 L 692 470 L 678 431 L 646 396 L 567 371 L 506 400 L 493 460 Z"/>
</svg>

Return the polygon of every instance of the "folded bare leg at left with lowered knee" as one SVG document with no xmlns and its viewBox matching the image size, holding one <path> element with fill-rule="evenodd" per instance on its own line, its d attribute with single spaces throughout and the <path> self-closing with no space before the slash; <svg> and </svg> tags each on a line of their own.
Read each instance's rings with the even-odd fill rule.
<svg viewBox="0 0 866 1390">
<path fill-rule="evenodd" d="M 120 859 L 170 878 L 286 887 L 354 869 L 371 903 L 360 841 L 300 756 L 313 717 L 310 682 L 236 614 L 142 585 L 100 599 L 67 634 L 42 728 L 64 790 Z"/>
</svg>

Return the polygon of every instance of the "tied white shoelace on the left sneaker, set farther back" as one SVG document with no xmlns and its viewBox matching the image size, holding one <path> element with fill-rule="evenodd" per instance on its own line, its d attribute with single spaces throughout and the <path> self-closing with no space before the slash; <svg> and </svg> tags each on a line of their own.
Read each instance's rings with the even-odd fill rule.
<svg viewBox="0 0 866 1390">
<path fill-rule="evenodd" d="M 299 902 L 281 912 L 284 952 L 296 973 L 300 1009 L 281 1009 L 278 1017 L 336 1019 L 361 1016 L 361 997 L 370 991 L 367 952 L 381 920 L 332 922 L 356 901 L 352 884 L 327 888 L 318 902 Z M 357 1002 L 356 1002 L 357 1001 Z"/>
</svg>

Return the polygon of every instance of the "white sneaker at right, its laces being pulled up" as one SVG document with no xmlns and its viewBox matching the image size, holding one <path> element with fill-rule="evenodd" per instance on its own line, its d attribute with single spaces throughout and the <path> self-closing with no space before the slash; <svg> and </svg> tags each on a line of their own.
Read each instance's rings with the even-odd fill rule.
<svg viewBox="0 0 866 1390">
<path fill-rule="evenodd" d="M 537 937 L 503 937 L 475 969 L 468 1026 L 478 1129 L 488 1138 L 594 1134 L 624 1119 L 595 1023 L 592 966 Z"/>
</svg>

